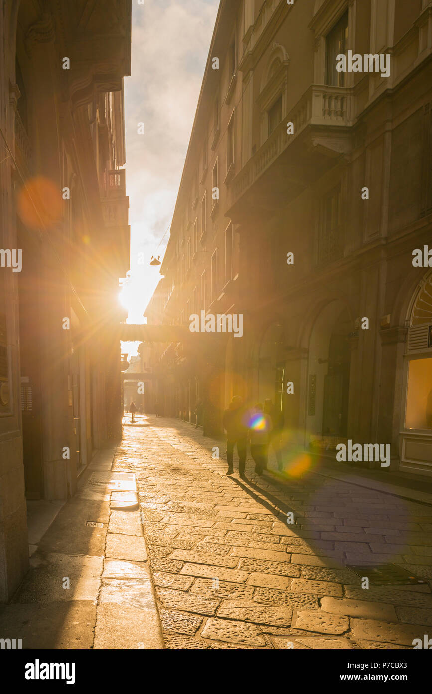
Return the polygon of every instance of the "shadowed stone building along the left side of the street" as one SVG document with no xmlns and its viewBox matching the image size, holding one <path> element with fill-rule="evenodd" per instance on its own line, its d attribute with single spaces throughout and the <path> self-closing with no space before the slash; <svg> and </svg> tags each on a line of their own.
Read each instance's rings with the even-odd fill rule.
<svg viewBox="0 0 432 694">
<path fill-rule="evenodd" d="M 26 500 L 71 496 L 120 431 L 130 10 L 1 3 L 0 600 L 28 564 Z"/>
</svg>

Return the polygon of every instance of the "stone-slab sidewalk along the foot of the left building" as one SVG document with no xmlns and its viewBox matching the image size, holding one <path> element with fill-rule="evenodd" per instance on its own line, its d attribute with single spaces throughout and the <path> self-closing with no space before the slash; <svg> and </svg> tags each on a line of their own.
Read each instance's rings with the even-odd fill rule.
<svg viewBox="0 0 432 694">
<path fill-rule="evenodd" d="M 33 532 L 30 571 L 0 606 L 1 636 L 30 649 L 163 648 L 136 493 L 87 486 L 113 458 L 115 448 L 99 451 L 42 538 Z"/>
</svg>

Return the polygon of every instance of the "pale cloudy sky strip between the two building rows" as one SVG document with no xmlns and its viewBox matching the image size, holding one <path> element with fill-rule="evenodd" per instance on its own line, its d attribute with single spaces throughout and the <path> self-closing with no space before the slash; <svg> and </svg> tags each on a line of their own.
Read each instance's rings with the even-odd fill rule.
<svg viewBox="0 0 432 694">
<path fill-rule="evenodd" d="M 143 323 L 161 278 L 150 260 L 163 260 L 170 237 L 218 6 L 219 0 L 132 0 L 132 68 L 125 78 L 131 266 L 120 291 L 128 323 Z M 135 354 L 137 346 L 123 344 L 122 351 Z"/>
</svg>

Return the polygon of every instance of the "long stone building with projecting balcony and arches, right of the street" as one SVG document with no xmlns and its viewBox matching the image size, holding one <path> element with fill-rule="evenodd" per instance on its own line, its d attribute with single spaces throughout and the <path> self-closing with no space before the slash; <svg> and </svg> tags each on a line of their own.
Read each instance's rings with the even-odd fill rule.
<svg viewBox="0 0 432 694">
<path fill-rule="evenodd" d="M 272 398 L 288 467 L 351 440 L 390 444 L 388 468 L 366 463 L 383 473 L 431 474 L 432 279 L 413 265 L 431 237 L 431 29 L 428 0 L 222 0 L 161 321 L 241 313 L 244 335 L 200 359 L 201 336 L 165 348 L 177 416 L 197 388 L 213 433 L 233 393 Z"/>
</svg>

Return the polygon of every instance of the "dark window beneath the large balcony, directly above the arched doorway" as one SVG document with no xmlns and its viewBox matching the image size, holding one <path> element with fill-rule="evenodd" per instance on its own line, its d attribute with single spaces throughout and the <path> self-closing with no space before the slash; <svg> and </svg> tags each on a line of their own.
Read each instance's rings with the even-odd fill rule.
<svg viewBox="0 0 432 694">
<path fill-rule="evenodd" d="M 330 262 L 341 254 L 341 186 L 327 193 L 320 203 L 318 262 Z"/>
</svg>

